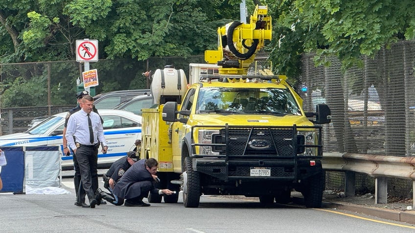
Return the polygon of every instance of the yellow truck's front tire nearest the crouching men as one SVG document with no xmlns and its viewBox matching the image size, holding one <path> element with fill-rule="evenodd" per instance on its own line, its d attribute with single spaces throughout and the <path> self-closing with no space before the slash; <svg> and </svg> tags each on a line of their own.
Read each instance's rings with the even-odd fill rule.
<svg viewBox="0 0 415 233">
<path fill-rule="evenodd" d="M 192 168 L 192 159 L 184 158 L 183 172 L 183 204 L 186 208 L 196 208 L 200 202 L 200 176 L 198 171 Z"/>
</svg>

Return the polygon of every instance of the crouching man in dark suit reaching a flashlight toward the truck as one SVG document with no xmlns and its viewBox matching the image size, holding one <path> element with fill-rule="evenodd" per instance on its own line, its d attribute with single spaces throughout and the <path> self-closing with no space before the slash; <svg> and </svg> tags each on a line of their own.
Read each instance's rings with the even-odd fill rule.
<svg viewBox="0 0 415 233">
<path fill-rule="evenodd" d="M 156 159 L 141 159 L 128 169 L 121 179 L 115 184 L 113 193 L 125 199 L 124 206 L 144 207 L 150 204 L 144 203 L 142 199 L 152 194 L 171 195 L 174 191 L 165 189 L 159 190 L 154 187 L 157 179 L 156 173 L 159 163 Z"/>
</svg>

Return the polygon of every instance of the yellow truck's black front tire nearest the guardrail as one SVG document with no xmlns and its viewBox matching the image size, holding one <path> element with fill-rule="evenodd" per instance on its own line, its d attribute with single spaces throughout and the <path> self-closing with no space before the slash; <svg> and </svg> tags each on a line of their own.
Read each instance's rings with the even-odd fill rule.
<svg viewBox="0 0 415 233">
<path fill-rule="evenodd" d="M 304 204 L 307 208 L 321 208 L 325 187 L 325 171 L 307 179 L 307 188 L 302 191 Z"/>
</svg>

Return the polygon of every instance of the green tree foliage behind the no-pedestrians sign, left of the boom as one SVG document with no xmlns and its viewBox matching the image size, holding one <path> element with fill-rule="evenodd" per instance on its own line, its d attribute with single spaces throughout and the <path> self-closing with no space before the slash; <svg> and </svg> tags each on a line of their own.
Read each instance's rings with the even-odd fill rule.
<svg viewBox="0 0 415 233">
<path fill-rule="evenodd" d="M 145 88 L 141 72 L 146 66 L 137 61 L 166 56 L 186 58 L 215 48 L 216 28 L 225 21 L 222 17 L 239 15 L 230 7 L 219 0 L 0 0 L 0 63 L 74 61 L 75 41 L 96 39 L 100 61 L 117 60 L 112 64 L 91 64 L 91 68 L 99 70 L 101 81 L 96 93 Z M 71 99 L 69 93 L 75 92 L 75 80 L 80 76 L 80 70 L 72 64 L 62 66 L 65 64 L 51 67 L 54 103 Z M 115 69 L 119 67 L 122 69 Z M 53 75 L 57 74 L 70 80 L 54 81 Z M 1 92 L 17 94 L 10 88 L 13 79 L 1 82 Z M 31 81 L 25 77 L 24 82 Z M 43 88 L 39 93 L 47 92 L 47 86 Z"/>
</svg>

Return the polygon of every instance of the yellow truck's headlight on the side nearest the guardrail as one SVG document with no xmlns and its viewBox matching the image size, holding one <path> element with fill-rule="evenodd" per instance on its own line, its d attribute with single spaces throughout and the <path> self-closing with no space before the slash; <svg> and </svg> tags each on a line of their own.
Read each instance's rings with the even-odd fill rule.
<svg viewBox="0 0 415 233">
<path fill-rule="evenodd" d="M 303 156 L 318 156 L 317 147 L 307 147 L 307 146 L 317 146 L 318 137 L 316 131 L 298 131 L 297 132 L 297 155 Z M 304 145 L 304 146 L 300 146 Z"/>
</svg>

